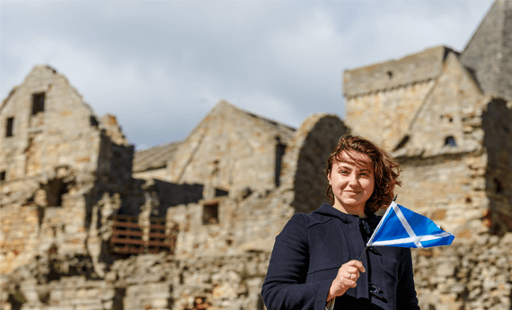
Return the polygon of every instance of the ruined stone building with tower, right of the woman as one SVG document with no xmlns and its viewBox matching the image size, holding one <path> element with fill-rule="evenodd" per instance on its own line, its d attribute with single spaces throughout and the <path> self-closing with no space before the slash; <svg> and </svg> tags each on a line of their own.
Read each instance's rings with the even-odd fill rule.
<svg viewBox="0 0 512 310">
<path fill-rule="evenodd" d="M 510 309 L 512 2 L 461 52 L 444 46 L 346 70 L 345 123 L 402 164 L 398 202 L 455 235 L 415 251 L 423 308 Z"/>
</svg>

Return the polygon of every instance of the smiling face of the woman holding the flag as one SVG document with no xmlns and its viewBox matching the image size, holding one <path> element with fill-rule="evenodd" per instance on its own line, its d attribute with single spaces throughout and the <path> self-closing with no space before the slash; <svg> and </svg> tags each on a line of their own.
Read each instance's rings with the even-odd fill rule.
<svg viewBox="0 0 512 310">
<path fill-rule="evenodd" d="M 375 180 L 373 164 L 362 153 L 343 151 L 331 166 L 327 180 L 334 193 L 334 208 L 341 212 L 365 216 L 366 200 L 374 192 Z"/>
</svg>

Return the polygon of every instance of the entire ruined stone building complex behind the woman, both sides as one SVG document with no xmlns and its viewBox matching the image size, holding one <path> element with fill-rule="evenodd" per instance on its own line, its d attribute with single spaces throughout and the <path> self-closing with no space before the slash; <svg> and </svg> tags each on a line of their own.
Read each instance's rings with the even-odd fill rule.
<svg viewBox="0 0 512 310">
<path fill-rule="evenodd" d="M 290 128 L 218 102 L 134 154 L 66 77 L 35 66 L 0 105 L 0 308 L 260 310 L 274 238 L 325 201 L 347 132 L 402 164 L 398 202 L 453 233 L 414 250 L 423 309 L 511 309 L 512 4 L 458 52 L 346 70 L 346 120 Z"/>
</svg>

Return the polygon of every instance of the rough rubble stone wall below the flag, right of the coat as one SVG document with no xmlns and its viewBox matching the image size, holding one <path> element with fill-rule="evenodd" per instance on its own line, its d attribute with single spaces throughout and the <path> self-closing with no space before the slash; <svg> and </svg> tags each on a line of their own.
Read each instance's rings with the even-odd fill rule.
<svg viewBox="0 0 512 310">
<path fill-rule="evenodd" d="M 412 250 L 419 306 L 429 310 L 510 309 L 511 249 L 512 233 L 479 235 L 471 244 Z"/>
</svg>

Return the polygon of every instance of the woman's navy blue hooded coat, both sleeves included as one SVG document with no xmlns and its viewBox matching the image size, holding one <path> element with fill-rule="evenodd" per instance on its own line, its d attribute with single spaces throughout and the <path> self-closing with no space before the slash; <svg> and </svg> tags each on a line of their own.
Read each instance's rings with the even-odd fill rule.
<svg viewBox="0 0 512 310">
<path fill-rule="evenodd" d="M 294 215 L 276 237 L 261 295 L 269 310 L 324 310 L 341 265 L 358 260 L 381 217 L 360 219 L 328 204 Z M 419 309 L 410 249 L 366 251 L 358 286 L 336 298 L 334 309 Z M 375 297 L 375 288 L 382 297 Z M 377 294 L 378 295 L 378 294 Z"/>
</svg>

